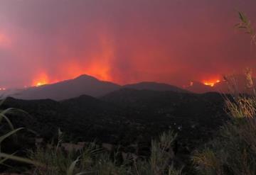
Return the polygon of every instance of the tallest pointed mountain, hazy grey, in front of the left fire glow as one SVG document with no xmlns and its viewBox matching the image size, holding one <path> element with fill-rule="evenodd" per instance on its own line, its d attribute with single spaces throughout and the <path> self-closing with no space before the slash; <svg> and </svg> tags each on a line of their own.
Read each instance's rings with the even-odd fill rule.
<svg viewBox="0 0 256 175">
<path fill-rule="evenodd" d="M 31 87 L 18 94 L 13 94 L 12 96 L 21 99 L 50 98 L 59 101 L 68 98 L 75 98 L 81 95 L 93 97 L 103 96 L 119 88 L 120 86 L 118 84 L 108 81 L 100 81 L 95 77 L 82 74 L 75 79 L 68 79 L 55 84 L 48 84 L 46 86 Z"/>
</svg>

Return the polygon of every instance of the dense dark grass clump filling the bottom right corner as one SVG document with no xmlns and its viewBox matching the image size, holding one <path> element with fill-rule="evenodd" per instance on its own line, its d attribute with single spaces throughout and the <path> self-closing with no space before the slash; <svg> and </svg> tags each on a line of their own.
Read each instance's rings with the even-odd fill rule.
<svg viewBox="0 0 256 175">
<path fill-rule="evenodd" d="M 228 123 L 218 138 L 193 155 L 201 174 L 256 174 L 256 122 Z"/>
</svg>

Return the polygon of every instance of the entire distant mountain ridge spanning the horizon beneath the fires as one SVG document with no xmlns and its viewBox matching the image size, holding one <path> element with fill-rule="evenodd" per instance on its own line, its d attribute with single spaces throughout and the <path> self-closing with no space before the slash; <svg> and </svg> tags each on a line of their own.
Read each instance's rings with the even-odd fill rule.
<svg viewBox="0 0 256 175">
<path fill-rule="evenodd" d="M 246 84 L 245 78 L 238 77 L 238 91 L 247 93 L 247 89 L 242 86 Z M 254 79 L 255 80 L 255 79 Z M 110 81 L 101 81 L 90 75 L 82 74 L 75 79 L 68 79 L 60 81 L 55 84 L 46 84 L 43 86 L 34 86 L 27 89 L 16 90 L 16 91 L 4 91 L 0 93 L 2 98 L 5 96 L 12 96 L 14 98 L 33 100 L 33 99 L 53 99 L 56 101 L 62 101 L 69 98 L 75 98 L 81 95 L 93 96 L 100 98 L 111 92 L 119 89 L 137 89 L 137 90 L 152 90 L 152 91 L 174 91 L 179 93 L 196 93 L 203 94 L 210 91 L 220 93 L 230 93 L 228 84 L 225 81 L 220 81 L 214 86 L 207 86 L 199 81 L 192 81 L 190 86 L 180 88 L 171 84 L 164 84 L 153 81 L 142 81 L 134 84 L 125 84 L 123 86 L 114 84 Z M 11 93 L 13 92 L 13 93 Z"/>
</svg>

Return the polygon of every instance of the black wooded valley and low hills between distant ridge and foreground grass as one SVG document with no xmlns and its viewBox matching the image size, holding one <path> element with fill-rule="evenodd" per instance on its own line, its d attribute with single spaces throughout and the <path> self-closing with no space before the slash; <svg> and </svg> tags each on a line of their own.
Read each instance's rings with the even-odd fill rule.
<svg viewBox="0 0 256 175">
<path fill-rule="evenodd" d="M 214 137 L 228 119 L 223 96 L 217 93 L 191 94 L 173 91 L 120 89 L 101 98 L 79 96 L 65 101 L 25 101 L 7 98 L 3 108 L 20 108 L 28 114 L 10 116 L 15 127 L 24 127 L 15 149 L 30 148 L 35 137 L 46 142 L 97 142 L 121 145 L 126 152 L 147 155 L 151 139 L 166 130 L 178 133 L 175 152 L 181 162 L 189 160 L 195 148 Z M 9 152 L 10 147 L 4 148 Z"/>
</svg>

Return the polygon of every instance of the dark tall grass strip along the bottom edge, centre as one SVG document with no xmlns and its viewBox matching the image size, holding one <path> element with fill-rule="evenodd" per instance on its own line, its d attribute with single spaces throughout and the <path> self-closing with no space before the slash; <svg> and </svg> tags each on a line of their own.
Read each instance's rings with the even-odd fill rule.
<svg viewBox="0 0 256 175">
<path fill-rule="evenodd" d="M 120 159 L 118 149 L 113 154 L 105 152 L 95 142 L 86 145 L 81 152 L 65 152 L 55 147 L 38 147 L 30 152 L 30 158 L 44 166 L 35 166 L 38 175 L 73 175 L 73 174 L 125 174 L 125 175 L 179 175 L 182 169 L 174 168 L 172 145 L 176 135 L 165 132 L 159 140 L 151 142 L 149 159 L 127 154 Z"/>
</svg>

